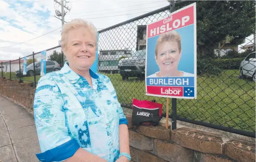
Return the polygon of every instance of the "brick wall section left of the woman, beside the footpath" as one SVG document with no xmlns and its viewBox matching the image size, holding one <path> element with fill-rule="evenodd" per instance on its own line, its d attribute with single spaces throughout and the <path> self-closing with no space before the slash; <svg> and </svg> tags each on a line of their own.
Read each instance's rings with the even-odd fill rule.
<svg viewBox="0 0 256 162">
<path fill-rule="evenodd" d="M 19 80 L 0 78 L 0 94 L 28 110 L 33 109 L 35 90 L 32 83 L 20 83 Z"/>
</svg>

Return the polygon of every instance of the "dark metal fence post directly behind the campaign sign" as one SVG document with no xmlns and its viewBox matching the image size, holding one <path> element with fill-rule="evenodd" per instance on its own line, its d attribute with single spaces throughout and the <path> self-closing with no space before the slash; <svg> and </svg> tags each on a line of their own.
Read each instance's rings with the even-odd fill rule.
<svg viewBox="0 0 256 162">
<path fill-rule="evenodd" d="M 175 11 L 175 0 L 170 2 L 170 12 Z M 177 128 L 177 98 L 172 98 L 172 130 Z"/>
</svg>

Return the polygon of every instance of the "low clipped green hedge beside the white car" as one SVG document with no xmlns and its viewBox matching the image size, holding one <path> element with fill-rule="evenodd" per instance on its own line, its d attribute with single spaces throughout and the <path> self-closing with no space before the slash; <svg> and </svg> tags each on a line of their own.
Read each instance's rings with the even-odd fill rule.
<svg viewBox="0 0 256 162">
<path fill-rule="evenodd" d="M 243 59 L 244 58 L 217 59 L 216 62 L 220 69 L 239 69 Z"/>
</svg>

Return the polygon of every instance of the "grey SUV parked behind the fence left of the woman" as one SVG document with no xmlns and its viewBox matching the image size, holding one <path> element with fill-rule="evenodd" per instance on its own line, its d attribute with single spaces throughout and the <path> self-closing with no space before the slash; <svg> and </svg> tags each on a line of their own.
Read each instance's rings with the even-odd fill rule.
<svg viewBox="0 0 256 162">
<path fill-rule="evenodd" d="M 40 61 L 35 62 L 36 72 L 34 72 L 34 67 L 32 63 L 26 67 L 26 76 L 34 76 L 34 74 L 40 75 L 40 69 L 41 69 Z M 50 73 L 52 71 L 58 71 L 60 69 L 61 69 L 60 64 L 58 64 L 56 61 L 46 61 L 46 73 Z M 20 76 L 20 69 L 17 69 L 15 71 L 15 75 Z M 23 76 L 23 68 L 21 68 L 21 76 Z"/>
</svg>

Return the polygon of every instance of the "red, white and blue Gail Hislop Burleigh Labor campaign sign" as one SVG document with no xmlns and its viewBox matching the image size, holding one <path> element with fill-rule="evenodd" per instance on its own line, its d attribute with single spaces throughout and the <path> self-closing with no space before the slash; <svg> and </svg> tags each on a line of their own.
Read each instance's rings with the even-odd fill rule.
<svg viewBox="0 0 256 162">
<path fill-rule="evenodd" d="M 146 95 L 196 99 L 196 3 L 148 24 L 146 33 Z"/>
</svg>

